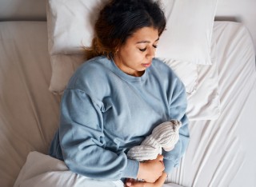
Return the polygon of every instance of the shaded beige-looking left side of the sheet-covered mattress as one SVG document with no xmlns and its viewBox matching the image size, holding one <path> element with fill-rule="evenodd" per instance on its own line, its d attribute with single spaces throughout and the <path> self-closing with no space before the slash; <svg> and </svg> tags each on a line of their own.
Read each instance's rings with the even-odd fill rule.
<svg viewBox="0 0 256 187">
<path fill-rule="evenodd" d="M 59 98 L 48 90 L 46 22 L 0 22 L 0 186 L 13 186 L 31 150 L 47 153 Z"/>
</svg>

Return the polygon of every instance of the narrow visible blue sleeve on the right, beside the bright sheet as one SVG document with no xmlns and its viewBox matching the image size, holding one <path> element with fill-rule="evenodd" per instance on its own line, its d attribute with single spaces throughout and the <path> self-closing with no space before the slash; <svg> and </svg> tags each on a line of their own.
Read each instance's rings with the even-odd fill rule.
<svg viewBox="0 0 256 187">
<path fill-rule="evenodd" d="M 182 126 L 179 129 L 179 140 L 169 152 L 163 150 L 165 172 L 170 173 L 174 167 L 178 166 L 186 148 L 189 144 L 189 121 L 186 117 L 186 90 L 182 82 L 176 82 L 174 90 L 172 91 L 170 98 L 170 119 L 177 119 L 182 122 Z"/>
</svg>

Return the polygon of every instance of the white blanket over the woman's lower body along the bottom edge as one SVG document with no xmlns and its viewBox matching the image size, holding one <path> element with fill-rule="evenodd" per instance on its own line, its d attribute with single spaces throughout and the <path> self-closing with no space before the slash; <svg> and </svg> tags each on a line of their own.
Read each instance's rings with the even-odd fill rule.
<svg viewBox="0 0 256 187">
<path fill-rule="evenodd" d="M 63 161 L 38 152 L 30 152 L 14 187 L 123 187 L 122 181 L 98 181 L 71 172 Z M 165 187 L 180 185 L 165 184 Z"/>
</svg>

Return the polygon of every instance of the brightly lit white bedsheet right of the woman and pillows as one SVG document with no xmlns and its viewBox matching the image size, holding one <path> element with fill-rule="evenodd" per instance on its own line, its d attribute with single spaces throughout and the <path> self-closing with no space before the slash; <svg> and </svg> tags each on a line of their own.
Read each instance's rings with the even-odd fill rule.
<svg viewBox="0 0 256 187">
<path fill-rule="evenodd" d="M 215 22 L 221 115 L 191 121 L 190 145 L 170 181 L 183 186 L 256 186 L 255 54 L 245 27 Z"/>
</svg>

